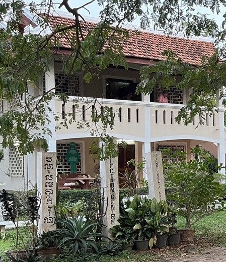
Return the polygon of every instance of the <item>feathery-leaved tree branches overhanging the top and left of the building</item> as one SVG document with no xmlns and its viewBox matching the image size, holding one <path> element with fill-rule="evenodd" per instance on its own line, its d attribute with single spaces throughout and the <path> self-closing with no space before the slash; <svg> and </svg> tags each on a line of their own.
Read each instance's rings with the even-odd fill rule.
<svg viewBox="0 0 226 262">
<path fill-rule="evenodd" d="M 91 28 L 88 34 L 84 34 L 82 23 L 86 20 L 81 11 L 89 10 L 94 2 L 101 7 L 100 22 Z M 137 93 L 151 93 L 157 83 L 167 88 L 172 84 L 177 84 L 179 89 L 193 87 L 194 92 L 187 105 L 181 109 L 177 120 L 183 119 L 187 124 L 195 114 L 201 112 L 201 109 L 213 112 L 216 106 L 212 98 L 221 86 L 225 86 L 226 81 L 226 14 L 220 14 L 220 7 L 226 6 L 225 1 L 87 0 L 85 4 L 80 5 L 77 2 L 74 5 L 76 7 L 72 7 L 68 0 L 61 0 L 58 4 L 53 3 L 53 0 L 43 0 L 39 4 L 25 3 L 22 0 L 1 2 L 0 19 L 5 22 L 1 24 L 0 30 L 0 96 L 1 99 L 10 101 L 15 94 L 26 94 L 25 103 L 21 105 L 20 110 L 9 110 L 0 117 L 3 147 L 12 145 L 15 140 L 20 142 L 19 150 L 22 154 L 33 152 L 37 143 L 46 147 L 45 135 L 51 136 L 48 123 L 52 116 L 56 121 L 59 120 L 59 116 L 48 106 L 54 96 L 52 91 L 56 87 L 52 87 L 42 96 L 32 97 L 29 95 L 28 86 L 35 86 L 38 79 L 48 71 L 51 55 L 57 46 L 59 47 L 62 36 L 66 37 L 71 46 L 70 54 L 62 58 L 63 70 L 68 75 L 73 71 L 82 70 L 85 72 L 84 80 L 89 83 L 93 76 L 107 68 L 109 63 L 115 67 L 120 64 L 127 69 L 121 41 L 128 35 L 123 25 L 126 22 L 132 23 L 137 16 L 140 18 L 141 29 L 152 26 L 169 35 L 183 32 L 185 37 L 210 36 L 219 46 L 212 57 L 203 57 L 198 66 L 183 63 L 174 53 L 167 50 L 166 60 L 141 69 L 141 83 Z M 205 7 L 218 16 L 222 15 L 222 28 L 209 19 L 208 15 L 196 14 L 194 6 Z M 74 16 L 76 23 L 53 27 L 50 30 L 48 22 L 51 21 L 52 11 L 56 7 L 64 7 Z M 36 33 L 32 33 L 32 30 L 23 33 L 24 26 L 20 21 L 24 8 L 35 14 L 32 21 L 40 28 Z M 150 77 L 153 72 L 157 73 Z M 177 75 L 183 77 L 179 83 L 176 83 Z M 68 100 L 65 94 L 55 96 L 63 102 Z M 220 98 L 223 98 L 225 103 L 223 92 L 220 92 Z M 108 107 L 100 110 L 97 99 L 91 101 L 91 104 L 94 106 L 92 122 L 95 125 L 94 128 L 91 126 L 92 134 L 100 137 L 100 140 L 108 145 L 102 148 L 100 158 L 115 156 L 113 139 L 106 133 L 108 127 L 114 126 L 114 114 Z M 71 116 L 67 115 L 56 128 L 68 126 L 71 121 Z M 90 125 L 89 122 L 78 122 L 78 128 Z"/>
</svg>

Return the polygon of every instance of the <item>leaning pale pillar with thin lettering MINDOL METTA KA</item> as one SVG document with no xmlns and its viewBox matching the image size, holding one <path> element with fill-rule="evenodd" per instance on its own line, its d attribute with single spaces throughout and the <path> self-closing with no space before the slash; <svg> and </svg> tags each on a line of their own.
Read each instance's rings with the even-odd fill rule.
<svg viewBox="0 0 226 262">
<path fill-rule="evenodd" d="M 166 200 L 162 153 L 159 151 L 154 151 L 146 153 L 145 156 L 149 198 L 156 198 L 158 202 L 161 200 Z"/>
</svg>

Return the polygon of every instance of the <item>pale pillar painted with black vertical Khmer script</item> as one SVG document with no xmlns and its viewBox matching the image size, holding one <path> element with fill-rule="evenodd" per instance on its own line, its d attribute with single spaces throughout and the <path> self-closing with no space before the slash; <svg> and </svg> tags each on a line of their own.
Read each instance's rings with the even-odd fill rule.
<svg viewBox="0 0 226 262">
<path fill-rule="evenodd" d="M 56 229 L 56 153 L 37 153 L 37 186 L 41 193 L 38 233 Z"/>
</svg>

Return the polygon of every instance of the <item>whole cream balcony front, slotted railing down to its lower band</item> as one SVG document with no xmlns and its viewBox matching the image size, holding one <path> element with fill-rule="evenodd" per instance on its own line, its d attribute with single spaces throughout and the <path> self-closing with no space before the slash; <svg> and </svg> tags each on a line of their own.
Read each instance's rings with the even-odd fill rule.
<svg viewBox="0 0 226 262">
<path fill-rule="evenodd" d="M 88 103 L 89 101 L 91 104 Z M 59 136 L 60 139 L 90 136 L 91 130 L 96 128 L 91 121 L 92 99 L 80 102 L 78 108 L 72 99 L 63 107 L 62 101 L 54 100 L 54 102 L 60 121 L 68 113 L 74 120 L 68 129 L 62 127 L 57 130 L 56 136 Z M 114 137 L 150 142 L 171 139 L 201 139 L 214 142 L 219 139 L 217 112 L 212 116 L 206 114 L 202 121 L 200 115 L 196 115 L 193 122 L 185 126 L 174 119 L 183 105 L 98 99 L 96 108 L 99 112 L 104 106 L 110 107 L 115 113 L 114 129 L 108 129 L 108 133 Z M 67 116 L 67 119 L 70 117 Z M 91 126 L 78 129 L 78 121 L 90 121 Z"/>
</svg>

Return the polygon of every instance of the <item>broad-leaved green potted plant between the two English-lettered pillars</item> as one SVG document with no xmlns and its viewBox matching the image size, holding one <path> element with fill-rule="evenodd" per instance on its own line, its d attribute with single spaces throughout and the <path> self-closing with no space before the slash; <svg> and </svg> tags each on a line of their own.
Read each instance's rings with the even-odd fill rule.
<svg viewBox="0 0 226 262">
<path fill-rule="evenodd" d="M 157 239 L 155 237 L 157 232 L 167 230 L 168 227 L 162 223 L 167 207 L 164 201 L 158 203 L 156 199 L 141 199 L 135 194 L 132 200 L 120 202 L 120 218 L 118 219 L 120 225 L 114 226 L 112 230 L 116 235 L 118 232 L 124 235 L 123 230 L 126 229 L 134 238 L 135 248 L 145 250 L 148 245 L 153 246 Z"/>
</svg>

